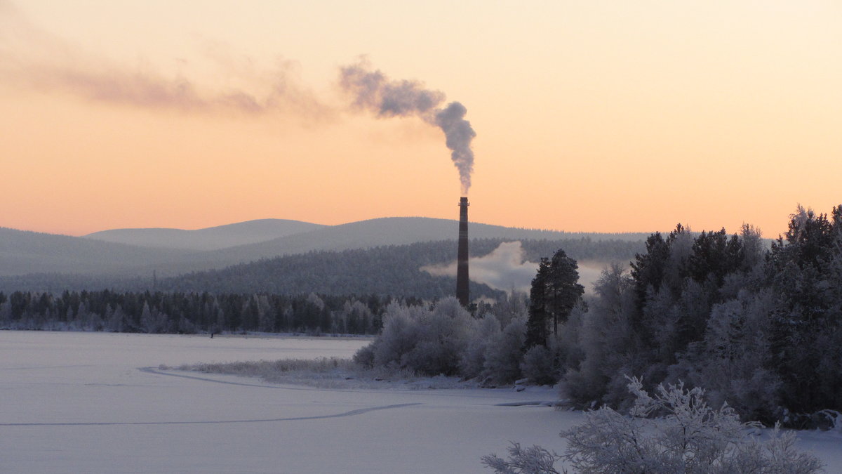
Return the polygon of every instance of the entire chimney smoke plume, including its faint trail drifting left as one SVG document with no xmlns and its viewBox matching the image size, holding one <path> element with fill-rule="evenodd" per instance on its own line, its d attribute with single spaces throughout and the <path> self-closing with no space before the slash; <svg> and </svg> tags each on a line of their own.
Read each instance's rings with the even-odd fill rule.
<svg viewBox="0 0 842 474">
<path fill-rule="evenodd" d="M 69 94 L 82 100 L 152 110 L 179 110 L 190 114 L 239 114 L 291 116 L 305 122 L 333 117 L 333 105 L 319 100 L 303 86 L 296 63 L 280 61 L 274 68 L 257 71 L 251 60 L 232 60 L 210 51 L 219 76 L 237 85 L 197 83 L 182 69 L 189 62 L 176 59 L 176 72 L 162 73 L 146 62 L 136 65 L 111 61 L 61 40 L 35 25 L 8 0 L 0 0 L 0 86 Z M 243 67 L 247 63 L 248 67 Z M 451 158 L 459 170 L 463 195 L 471 186 L 473 152 L 477 134 L 465 120 L 459 102 L 443 106 L 445 94 L 424 88 L 423 83 L 392 80 L 367 62 L 341 68 L 342 89 L 354 95 L 354 107 L 377 117 L 415 116 L 445 132 Z"/>
</svg>

